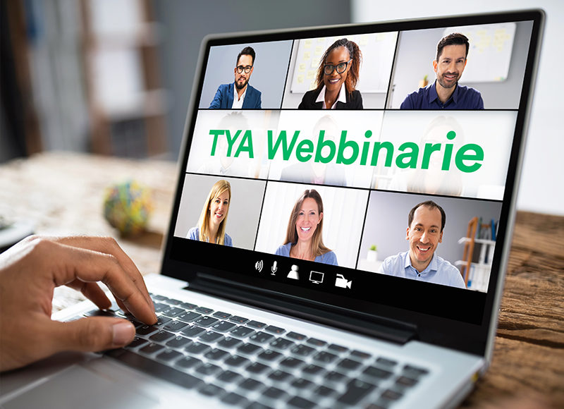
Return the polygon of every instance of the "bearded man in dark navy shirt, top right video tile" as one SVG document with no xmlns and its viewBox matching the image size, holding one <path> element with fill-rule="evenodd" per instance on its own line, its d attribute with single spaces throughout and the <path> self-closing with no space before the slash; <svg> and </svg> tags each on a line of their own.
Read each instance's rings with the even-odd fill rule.
<svg viewBox="0 0 564 409">
<path fill-rule="evenodd" d="M 400 109 L 484 109 L 479 91 L 458 85 L 470 43 L 465 35 L 447 35 L 436 46 L 436 81 L 407 95 Z"/>
</svg>

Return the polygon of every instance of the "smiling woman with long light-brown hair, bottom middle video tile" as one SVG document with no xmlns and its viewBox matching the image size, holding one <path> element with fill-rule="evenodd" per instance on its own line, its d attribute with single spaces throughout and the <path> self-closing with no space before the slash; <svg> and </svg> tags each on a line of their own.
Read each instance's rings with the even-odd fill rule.
<svg viewBox="0 0 564 409">
<path fill-rule="evenodd" d="M 317 190 L 308 189 L 294 204 L 285 243 L 276 255 L 324 264 L 337 264 L 337 256 L 323 244 L 323 201 Z"/>
</svg>

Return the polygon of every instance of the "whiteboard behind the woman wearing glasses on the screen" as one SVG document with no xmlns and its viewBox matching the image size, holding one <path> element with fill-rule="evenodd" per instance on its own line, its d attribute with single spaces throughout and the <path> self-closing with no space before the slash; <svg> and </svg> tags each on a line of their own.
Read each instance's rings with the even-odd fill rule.
<svg viewBox="0 0 564 409">
<path fill-rule="evenodd" d="M 294 60 L 290 92 L 304 94 L 315 89 L 315 77 L 321 56 L 333 42 L 343 37 L 357 43 L 360 51 L 362 51 L 360 80 L 356 86 L 357 90 L 362 92 L 387 92 L 398 32 L 298 40 L 298 52 Z"/>
</svg>

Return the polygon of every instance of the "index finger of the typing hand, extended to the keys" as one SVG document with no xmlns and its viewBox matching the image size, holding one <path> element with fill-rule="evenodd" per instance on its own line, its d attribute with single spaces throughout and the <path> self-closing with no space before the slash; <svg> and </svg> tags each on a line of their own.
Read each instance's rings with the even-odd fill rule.
<svg viewBox="0 0 564 409">
<path fill-rule="evenodd" d="M 57 286 L 71 283 L 75 279 L 85 282 L 102 281 L 135 317 L 147 324 L 157 322 L 154 307 L 152 303 L 149 304 L 147 290 L 142 291 L 135 284 L 114 255 L 49 240 L 44 240 L 43 243 L 52 247 L 45 254 L 49 254 L 49 262 L 54 267 L 43 271 L 52 272 L 52 279 Z"/>
</svg>

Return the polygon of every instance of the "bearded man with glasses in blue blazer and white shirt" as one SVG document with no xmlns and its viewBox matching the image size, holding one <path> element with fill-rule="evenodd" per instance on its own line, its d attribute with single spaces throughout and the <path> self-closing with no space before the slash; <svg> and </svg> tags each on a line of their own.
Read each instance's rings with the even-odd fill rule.
<svg viewBox="0 0 564 409">
<path fill-rule="evenodd" d="M 237 56 L 237 66 L 233 69 L 235 82 L 219 85 L 216 96 L 209 107 L 213 109 L 260 109 L 261 93 L 249 85 L 254 64 L 255 50 L 252 47 L 245 47 Z"/>
</svg>

